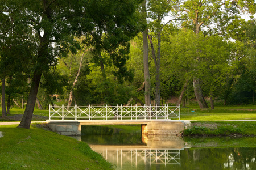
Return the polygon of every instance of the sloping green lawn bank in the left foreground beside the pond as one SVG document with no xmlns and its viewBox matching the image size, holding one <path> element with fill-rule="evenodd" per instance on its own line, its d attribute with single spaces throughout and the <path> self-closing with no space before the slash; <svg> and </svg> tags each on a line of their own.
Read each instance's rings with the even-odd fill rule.
<svg viewBox="0 0 256 170">
<path fill-rule="evenodd" d="M 36 128 L 0 126 L 1 169 L 111 169 L 84 142 Z"/>
</svg>

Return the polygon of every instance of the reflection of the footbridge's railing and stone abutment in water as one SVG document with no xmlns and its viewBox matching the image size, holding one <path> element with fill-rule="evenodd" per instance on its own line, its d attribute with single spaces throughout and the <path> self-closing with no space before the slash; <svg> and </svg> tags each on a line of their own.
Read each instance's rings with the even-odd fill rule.
<svg viewBox="0 0 256 170">
<path fill-rule="evenodd" d="M 184 141 L 177 136 L 150 136 L 143 138 L 141 145 L 93 145 L 92 149 L 101 153 L 106 160 L 117 166 L 117 169 L 126 169 L 127 166 L 137 168 L 156 164 L 175 164 L 180 166 L 180 151 L 184 150 Z M 126 167 L 126 168 L 124 168 Z M 129 168 L 130 169 L 130 168 Z"/>
</svg>

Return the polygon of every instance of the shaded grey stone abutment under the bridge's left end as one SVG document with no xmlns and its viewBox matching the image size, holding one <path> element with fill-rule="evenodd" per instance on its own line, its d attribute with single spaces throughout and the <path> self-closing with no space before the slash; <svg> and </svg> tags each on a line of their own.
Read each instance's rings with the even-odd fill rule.
<svg viewBox="0 0 256 170">
<path fill-rule="evenodd" d="M 81 124 L 79 122 L 49 122 L 47 126 L 58 134 L 65 136 L 81 135 Z"/>
</svg>

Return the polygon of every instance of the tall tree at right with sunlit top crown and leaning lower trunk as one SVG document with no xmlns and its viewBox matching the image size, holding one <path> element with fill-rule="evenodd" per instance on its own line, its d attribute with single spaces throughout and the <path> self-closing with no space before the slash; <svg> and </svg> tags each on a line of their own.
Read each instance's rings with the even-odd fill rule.
<svg viewBox="0 0 256 170">
<path fill-rule="evenodd" d="M 199 34 L 200 29 L 203 30 L 204 35 L 212 29 L 220 29 L 220 27 L 210 27 L 216 22 L 220 23 L 218 25 L 225 25 L 230 22 L 230 20 L 234 18 L 233 16 L 239 13 L 239 9 L 241 8 L 245 8 L 253 13 L 255 12 L 255 3 L 251 1 L 189 0 L 181 1 L 180 7 L 181 8 L 178 11 L 181 11 L 184 14 L 182 15 L 182 18 L 184 19 L 183 26 L 192 29 L 196 35 Z M 223 8 L 224 10 L 222 10 Z M 202 28 L 203 26 L 205 29 Z M 207 29 L 207 27 L 209 29 Z M 200 53 L 200 49 L 198 49 L 196 53 Z M 198 57 L 197 61 L 200 62 L 201 59 Z M 196 76 L 193 78 L 193 87 L 200 108 L 208 108 L 201 90 L 200 79 Z"/>
</svg>

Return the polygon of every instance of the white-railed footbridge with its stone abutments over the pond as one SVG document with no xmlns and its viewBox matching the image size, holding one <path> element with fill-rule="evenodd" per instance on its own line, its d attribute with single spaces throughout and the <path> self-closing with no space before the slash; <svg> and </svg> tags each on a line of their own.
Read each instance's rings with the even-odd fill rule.
<svg viewBox="0 0 256 170">
<path fill-rule="evenodd" d="M 179 106 L 49 105 L 49 128 L 63 135 L 81 135 L 81 125 L 140 124 L 142 134 L 177 135 L 184 129 Z"/>
</svg>

